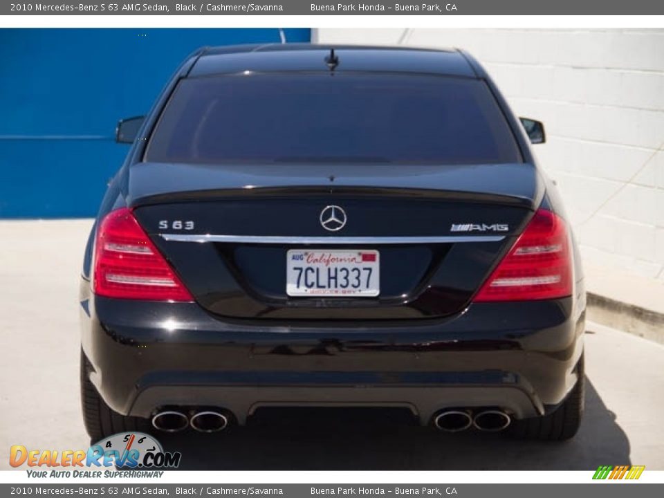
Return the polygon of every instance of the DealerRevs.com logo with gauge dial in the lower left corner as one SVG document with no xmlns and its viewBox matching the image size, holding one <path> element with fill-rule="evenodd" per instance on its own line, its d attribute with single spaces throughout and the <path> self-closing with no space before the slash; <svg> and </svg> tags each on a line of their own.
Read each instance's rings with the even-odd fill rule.
<svg viewBox="0 0 664 498">
<path fill-rule="evenodd" d="M 28 467 L 53 469 L 50 472 L 28 470 L 30 477 L 102 477 L 100 470 L 77 468 L 172 469 L 180 465 L 181 458 L 180 452 L 165 452 L 161 444 L 149 434 L 120 432 L 102 439 L 87 450 L 28 450 L 24 445 L 13 445 L 9 463 L 12 467 L 26 464 Z M 104 477 L 109 475 L 104 474 Z"/>
</svg>

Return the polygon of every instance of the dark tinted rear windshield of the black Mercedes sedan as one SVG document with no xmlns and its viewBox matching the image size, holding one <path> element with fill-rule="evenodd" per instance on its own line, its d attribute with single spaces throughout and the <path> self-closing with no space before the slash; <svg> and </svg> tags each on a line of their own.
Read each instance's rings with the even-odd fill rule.
<svg viewBox="0 0 664 498">
<path fill-rule="evenodd" d="M 517 163 L 488 86 L 393 74 L 181 80 L 150 139 L 160 163 Z"/>
</svg>

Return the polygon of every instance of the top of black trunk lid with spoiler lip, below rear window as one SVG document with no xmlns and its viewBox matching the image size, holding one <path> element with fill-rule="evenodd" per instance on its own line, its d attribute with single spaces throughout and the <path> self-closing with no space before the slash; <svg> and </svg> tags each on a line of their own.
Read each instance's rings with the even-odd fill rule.
<svg viewBox="0 0 664 498">
<path fill-rule="evenodd" d="M 350 168 L 354 168 L 349 171 Z M 531 163 L 493 165 L 192 165 L 135 163 L 127 205 L 299 195 L 394 196 L 535 210 L 544 182 Z M 297 173 L 297 174 L 296 174 Z"/>
</svg>

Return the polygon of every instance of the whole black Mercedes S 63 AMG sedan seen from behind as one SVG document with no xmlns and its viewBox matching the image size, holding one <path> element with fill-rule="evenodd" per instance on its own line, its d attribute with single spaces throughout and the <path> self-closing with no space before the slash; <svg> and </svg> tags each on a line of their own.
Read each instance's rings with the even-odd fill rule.
<svg viewBox="0 0 664 498">
<path fill-rule="evenodd" d="M 82 274 L 91 437 L 284 406 L 577 431 L 585 295 L 544 128 L 470 55 L 205 48 L 117 139 Z"/>
</svg>

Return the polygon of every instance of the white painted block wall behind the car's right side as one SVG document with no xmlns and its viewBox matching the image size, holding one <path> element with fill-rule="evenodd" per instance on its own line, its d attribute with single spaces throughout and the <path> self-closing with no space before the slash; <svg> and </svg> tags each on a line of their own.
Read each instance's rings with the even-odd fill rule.
<svg viewBox="0 0 664 498">
<path fill-rule="evenodd" d="M 320 43 L 469 50 L 519 116 L 593 263 L 664 279 L 664 30 L 315 30 Z"/>
</svg>

